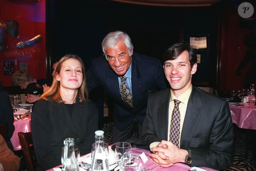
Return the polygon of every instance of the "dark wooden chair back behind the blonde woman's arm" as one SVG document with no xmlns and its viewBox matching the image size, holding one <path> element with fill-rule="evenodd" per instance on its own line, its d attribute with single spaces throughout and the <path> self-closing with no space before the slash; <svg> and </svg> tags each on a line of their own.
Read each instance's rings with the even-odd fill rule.
<svg viewBox="0 0 256 171">
<path fill-rule="evenodd" d="M 26 170 L 36 171 L 38 162 L 35 155 L 32 132 L 18 132 L 18 137 L 25 158 Z"/>
</svg>

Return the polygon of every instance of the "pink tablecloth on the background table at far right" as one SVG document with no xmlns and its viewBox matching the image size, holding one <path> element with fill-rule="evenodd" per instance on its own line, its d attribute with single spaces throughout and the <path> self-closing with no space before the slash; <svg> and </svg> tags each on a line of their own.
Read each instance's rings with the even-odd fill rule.
<svg viewBox="0 0 256 171">
<path fill-rule="evenodd" d="M 239 128 L 256 130 L 256 106 L 230 106 L 232 122 Z"/>
</svg>

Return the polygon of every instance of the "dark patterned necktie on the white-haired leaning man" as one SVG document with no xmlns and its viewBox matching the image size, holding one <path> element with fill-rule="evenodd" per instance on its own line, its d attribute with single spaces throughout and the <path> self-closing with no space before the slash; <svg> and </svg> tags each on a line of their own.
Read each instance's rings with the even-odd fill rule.
<svg viewBox="0 0 256 171">
<path fill-rule="evenodd" d="M 128 104 L 130 107 L 133 107 L 132 103 L 132 94 L 128 87 L 125 84 L 126 78 L 125 76 L 120 76 L 121 78 L 121 84 L 120 84 L 120 93 L 121 93 L 121 98 L 122 100 Z"/>
</svg>

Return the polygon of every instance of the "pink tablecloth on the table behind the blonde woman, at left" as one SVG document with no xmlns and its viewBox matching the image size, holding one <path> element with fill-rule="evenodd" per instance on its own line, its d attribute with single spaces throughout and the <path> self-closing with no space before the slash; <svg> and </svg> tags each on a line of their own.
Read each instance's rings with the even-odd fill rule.
<svg viewBox="0 0 256 171">
<path fill-rule="evenodd" d="M 13 125 L 15 127 L 15 130 L 11 137 L 11 145 L 13 146 L 14 150 L 21 150 L 18 132 L 31 132 L 31 126 L 30 126 L 31 116 L 28 116 L 27 118 L 28 119 L 24 119 L 24 120 L 14 119 Z"/>
</svg>

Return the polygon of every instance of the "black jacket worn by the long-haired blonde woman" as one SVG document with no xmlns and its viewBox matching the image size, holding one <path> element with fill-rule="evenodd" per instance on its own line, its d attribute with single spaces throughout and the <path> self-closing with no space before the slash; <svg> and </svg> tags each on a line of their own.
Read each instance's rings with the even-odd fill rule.
<svg viewBox="0 0 256 171">
<path fill-rule="evenodd" d="M 44 169 L 61 164 L 61 149 L 65 138 L 74 138 L 80 154 L 85 155 L 95 142 L 98 111 L 93 102 L 78 103 L 72 115 L 64 103 L 40 99 L 34 104 L 31 129 L 38 164 Z"/>
</svg>

